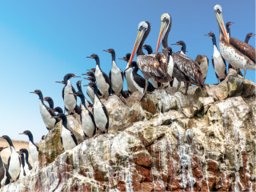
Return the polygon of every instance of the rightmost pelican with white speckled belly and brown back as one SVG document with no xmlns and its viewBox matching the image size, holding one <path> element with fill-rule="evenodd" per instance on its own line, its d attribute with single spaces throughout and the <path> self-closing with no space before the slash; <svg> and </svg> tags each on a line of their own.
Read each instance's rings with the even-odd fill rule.
<svg viewBox="0 0 256 192">
<path fill-rule="evenodd" d="M 230 62 L 231 66 L 244 69 L 243 77 L 245 78 L 246 70 L 256 70 L 256 51 L 254 47 L 246 44 L 246 42 L 241 42 L 236 38 L 230 38 L 228 36 L 222 18 L 222 6 L 214 6 L 214 12 L 218 22 L 219 48 L 222 57 L 225 58 L 227 62 Z"/>
</svg>

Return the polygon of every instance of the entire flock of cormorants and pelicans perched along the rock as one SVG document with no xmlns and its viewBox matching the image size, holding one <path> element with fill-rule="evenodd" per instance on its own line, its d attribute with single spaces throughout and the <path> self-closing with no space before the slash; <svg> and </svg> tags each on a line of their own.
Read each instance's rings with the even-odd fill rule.
<svg viewBox="0 0 256 192">
<path fill-rule="evenodd" d="M 255 70 L 255 50 L 248 45 L 250 37 L 254 34 L 246 35 L 245 42 L 230 37 L 230 25 L 233 22 L 227 22 L 226 28 L 222 19 L 222 7 L 214 6 L 214 13 L 219 26 L 219 49 L 214 33 L 210 32 L 206 36 L 210 37 L 213 42 L 214 54 L 212 56 L 212 64 L 214 66 L 218 82 L 222 82 L 226 78 L 226 62 L 229 62 L 230 67 L 235 70 L 244 69 L 243 78 L 246 75 L 246 70 Z M 127 63 L 126 70 L 122 72 L 116 63 L 114 49 L 104 50 L 109 53 L 112 58 L 112 69 L 107 75 L 101 70 L 98 54 L 91 54 L 87 58 L 92 58 L 96 62 L 96 67 L 87 70 L 87 80 L 90 83 L 87 86 L 86 94 L 90 101 L 82 93 L 81 81 L 77 82 L 78 91 L 71 85 L 70 78 L 78 78 L 74 74 L 66 74 L 63 81 L 59 82 L 64 85 L 62 90 L 62 98 L 64 100 L 64 112 L 61 107 L 54 108 L 54 101 L 50 97 L 43 98 L 41 90 L 34 90 L 33 94 L 39 97 L 39 108 L 42 115 L 42 120 L 46 125 L 47 130 L 53 130 L 56 123 L 62 121 L 61 140 L 64 150 L 70 150 L 78 145 L 77 139 L 74 137 L 72 130 L 68 128 L 67 115 L 78 114 L 82 124 L 82 130 L 85 138 L 94 137 L 95 134 L 107 134 L 109 127 L 109 115 L 100 100 L 100 98 L 108 99 L 111 94 L 116 94 L 120 98 L 128 98 L 135 91 L 140 91 L 143 96 L 146 92 L 155 89 L 164 89 L 169 86 L 179 87 L 186 85 L 188 87 L 193 84 L 200 89 L 205 87 L 205 79 L 208 70 L 209 59 L 206 55 L 198 54 L 195 60 L 186 55 L 186 44 L 183 41 L 178 41 L 171 45 L 181 47 L 177 53 L 173 52 L 168 46 L 167 40 L 172 25 L 170 14 L 162 14 L 161 28 L 158 36 L 156 52 L 153 53 L 152 47 L 144 45 L 147 36 L 150 34 L 150 22 L 140 22 L 138 24 L 138 35 L 134 43 L 134 49 L 131 54 L 126 54 L 122 59 Z M 227 30 L 226 30 L 227 29 Z M 162 44 L 162 53 L 158 52 Z M 147 51 L 147 54 L 143 52 Z M 134 55 L 137 54 L 137 61 L 133 61 Z M 138 74 L 141 70 L 144 78 Z M 126 78 L 128 90 L 123 88 L 123 76 Z M 152 83 L 149 82 L 149 79 Z M 142 97 L 143 97 L 142 96 Z M 77 105 L 77 97 L 81 99 L 80 106 Z M 141 98 L 140 98 L 141 99 Z M 46 106 L 44 102 L 48 102 Z M 38 146 L 34 144 L 33 134 L 30 130 L 25 130 L 21 134 L 26 134 L 29 138 L 29 151 L 21 149 L 16 151 L 13 142 L 7 135 L 1 138 L 5 139 L 10 145 L 10 158 L 8 165 L 2 162 L 0 156 L 0 182 L 4 186 L 10 182 L 22 178 L 33 169 L 28 161 L 29 154 L 33 165 L 38 164 Z M 45 136 L 42 137 L 45 139 Z M 0 151 L 7 147 L 0 147 Z"/>
</svg>

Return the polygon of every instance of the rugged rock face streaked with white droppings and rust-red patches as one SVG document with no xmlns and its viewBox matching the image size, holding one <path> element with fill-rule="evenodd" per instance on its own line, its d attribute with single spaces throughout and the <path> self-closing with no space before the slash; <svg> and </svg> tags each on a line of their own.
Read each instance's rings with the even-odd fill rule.
<svg viewBox="0 0 256 192">
<path fill-rule="evenodd" d="M 233 77 L 189 95 L 110 96 L 109 134 L 52 153 L 56 126 L 40 143 L 39 169 L 1 190 L 255 191 L 255 87 Z"/>
</svg>

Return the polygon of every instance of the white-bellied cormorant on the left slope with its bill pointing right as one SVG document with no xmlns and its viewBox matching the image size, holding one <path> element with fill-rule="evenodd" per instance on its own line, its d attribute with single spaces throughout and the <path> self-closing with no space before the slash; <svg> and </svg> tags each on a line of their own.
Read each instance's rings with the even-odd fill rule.
<svg viewBox="0 0 256 192">
<path fill-rule="evenodd" d="M 67 110 L 68 114 L 77 114 L 81 113 L 81 109 L 77 106 L 77 96 L 70 93 L 75 93 L 74 87 L 70 82 L 70 78 L 80 78 L 80 76 L 75 76 L 74 74 L 66 74 L 64 76 L 64 84 L 65 86 L 62 89 L 62 98 L 64 100 L 65 110 Z"/>
</svg>

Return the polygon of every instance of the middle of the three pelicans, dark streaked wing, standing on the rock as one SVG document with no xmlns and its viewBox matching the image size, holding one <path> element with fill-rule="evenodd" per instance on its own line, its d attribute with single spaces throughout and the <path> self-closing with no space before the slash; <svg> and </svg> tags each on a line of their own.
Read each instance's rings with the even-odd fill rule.
<svg viewBox="0 0 256 192">
<path fill-rule="evenodd" d="M 204 87 L 204 78 L 202 78 L 202 72 L 197 62 L 194 62 L 194 60 L 188 58 L 184 54 L 172 52 L 170 47 L 167 46 L 167 38 L 171 26 L 171 19 L 169 20 L 168 18 L 170 18 L 170 14 L 162 14 L 156 50 L 158 51 L 160 43 L 162 42 L 163 53 L 166 55 L 166 58 L 172 58 L 174 62 L 173 77 L 177 78 L 179 82 L 186 82 L 186 94 L 190 83 L 195 84 L 200 88 Z M 179 89 L 179 86 L 177 90 Z"/>
</svg>

